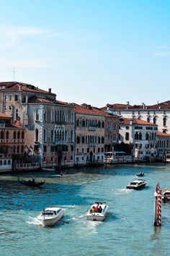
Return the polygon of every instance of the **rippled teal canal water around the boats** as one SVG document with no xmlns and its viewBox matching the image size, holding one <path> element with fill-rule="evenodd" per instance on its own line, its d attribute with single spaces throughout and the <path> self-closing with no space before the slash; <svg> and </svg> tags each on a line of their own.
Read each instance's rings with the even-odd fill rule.
<svg viewBox="0 0 170 256">
<path fill-rule="evenodd" d="M 76 171 L 76 170 L 71 170 Z M 81 176 L 45 179 L 42 188 L 24 187 L 17 174 L 0 176 L 1 255 L 170 255 L 170 204 L 162 205 L 162 226 L 153 226 L 156 184 L 170 188 L 170 165 L 122 165 L 84 168 Z M 128 190 L 135 174 L 144 171 L 147 187 Z M 30 177 L 32 174 L 24 174 Z M 107 202 L 104 222 L 86 221 L 94 201 Z M 36 216 L 50 205 L 65 210 L 53 228 L 39 225 Z"/>
</svg>

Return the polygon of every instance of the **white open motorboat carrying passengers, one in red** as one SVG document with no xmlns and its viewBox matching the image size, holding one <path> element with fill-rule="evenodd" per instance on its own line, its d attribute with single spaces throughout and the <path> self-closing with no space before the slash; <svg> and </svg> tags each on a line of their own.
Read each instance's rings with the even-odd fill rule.
<svg viewBox="0 0 170 256">
<path fill-rule="evenodd" d="M 106 202 L 95 202 L 91 205 L 91 208 L 86 215 L 86 219 L 88 221 L 104 221 L 107 210 L 108 205 Z"/>
</svg>

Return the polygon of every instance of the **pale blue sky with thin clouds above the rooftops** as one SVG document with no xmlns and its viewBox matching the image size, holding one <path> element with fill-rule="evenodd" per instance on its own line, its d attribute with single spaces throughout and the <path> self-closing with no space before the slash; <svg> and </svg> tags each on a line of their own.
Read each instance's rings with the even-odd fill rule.
<svg viewBox="0 0 170 256">
<path fill-rule="evenodd" d="M 0 0 L 0 8 L 1 82 L 97 107 L 170 100 L 169 0 Z"/>
</svg>

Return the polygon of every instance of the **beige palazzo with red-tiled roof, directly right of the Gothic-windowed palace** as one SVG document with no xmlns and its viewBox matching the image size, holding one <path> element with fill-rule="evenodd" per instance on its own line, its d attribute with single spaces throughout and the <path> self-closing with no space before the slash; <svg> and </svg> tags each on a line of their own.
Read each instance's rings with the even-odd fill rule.
<svg viewBox="0 0 170 256">
<path fill-rule="evenodd" d="M 73 103 L 76 112 L 75 163 L 97 164 L 104 161 L 104 111 L 86 103 Z"/>
</svg>

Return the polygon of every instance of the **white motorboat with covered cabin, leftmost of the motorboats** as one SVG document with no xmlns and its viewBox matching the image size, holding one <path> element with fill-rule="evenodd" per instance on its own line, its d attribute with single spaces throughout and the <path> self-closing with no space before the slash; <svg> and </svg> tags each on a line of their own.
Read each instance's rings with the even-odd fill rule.
<svg viewBox="0 0 170 256">
<path fill-rule="evenodd" d="M 61 208 L 48 207 L 42 210 L 37 219 L 42 226 L 53 226 L 63 217 L 63 213 L 64 211 Z"/>
</svg>

